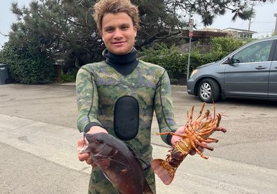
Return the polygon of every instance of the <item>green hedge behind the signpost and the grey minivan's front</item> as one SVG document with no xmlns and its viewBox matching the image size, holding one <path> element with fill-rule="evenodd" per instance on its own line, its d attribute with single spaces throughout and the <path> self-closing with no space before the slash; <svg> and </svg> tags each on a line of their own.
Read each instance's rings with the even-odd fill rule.
<svg viewBox="0 0 277 194">
<path fill-rule="evenodd" d="M 221 60 L 224 56 L 229 54 L 240 46 L 247 44 L 253 39 L 238 39 L 231 37 L 214 37 L 211 39 L 212 49 L 211 53 L 200 54 L 197 49 L 190 53 L 190 69 L 193 69 L 207 64 Z M 168 48 L 166 44 L 157 44 L 152 48 L 143 49 L 140 52 L 141 60 L 158 64 L 168 71 L 170 80 L 176 82 L 176 78 L 186 78 L 188 69 L 188 53 L 181 54 L 176 46 Z"/>
</svg>

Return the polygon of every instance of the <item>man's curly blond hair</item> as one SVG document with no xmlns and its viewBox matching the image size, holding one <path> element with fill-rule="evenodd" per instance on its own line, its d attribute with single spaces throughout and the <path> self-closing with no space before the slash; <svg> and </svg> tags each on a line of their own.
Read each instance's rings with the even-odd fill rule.
<svg viewBox="0 0 277 194">
<path fill-rule="evenodd" d="M 139 10 L 129 0 L 100 0 L 94 6 L 93 18 L 98 30 L 102 30 L 102 19 L 106 13 L 116 14 L 125 12 L 133 21 L 133 25 L 139 28 Z"/>
</svg>

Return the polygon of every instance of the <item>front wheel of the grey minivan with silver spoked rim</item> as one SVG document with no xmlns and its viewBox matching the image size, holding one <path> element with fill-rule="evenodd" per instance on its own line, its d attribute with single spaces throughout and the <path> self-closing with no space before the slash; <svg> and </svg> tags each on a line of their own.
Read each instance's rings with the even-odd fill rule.
<svg viewBox="0 0 277 194">
<path fill-rule="evenodd" d="M 198 96 L 203 102 L 216 102 L 218 97 L 220 97 L 220 87 L 215 80 L 206 78 L 199 84 Z"/>
</svg>

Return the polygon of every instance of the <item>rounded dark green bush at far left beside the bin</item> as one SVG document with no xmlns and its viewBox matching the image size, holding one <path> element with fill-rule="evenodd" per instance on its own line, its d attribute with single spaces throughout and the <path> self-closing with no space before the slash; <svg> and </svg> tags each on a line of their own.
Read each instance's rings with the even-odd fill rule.
<svg viewBox="0 0 277 194">
<path fill-rule="evenodd" d="M 0 51 L 0 62 L 8 65 L 14 82 L 44 84 L 55 80 L 53 60 L 46 52 L 35 50 L 35 46 L 17 47 L 6 42 Z"/>
</svg>

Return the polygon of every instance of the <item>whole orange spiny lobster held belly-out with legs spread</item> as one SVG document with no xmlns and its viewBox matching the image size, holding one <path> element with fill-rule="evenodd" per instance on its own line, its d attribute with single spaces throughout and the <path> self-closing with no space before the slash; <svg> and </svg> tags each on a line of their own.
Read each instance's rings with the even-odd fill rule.
<svg viewBox="0 0 277 194">
<path fill-rule="evenodd" d="M 208 109 L 202 116 L 205 104 L 206 103 L 202 104 L 199 115 L 195 120 L 193 120 L 194 106 L 191 108 L 190 115 L 187 112 L 184 134 L 176 134 L 173 132 L 157 133 L 159 135 L 170 134 L 182 137 L 180 141 L 177 141 L 175 145 L 172 145 L 172 149 L 168 151 L 169 154 L 167 155 L 166 160 L 153 159 L 151 161 L 152 170 L 158 175 L 163 184 L 168 185 L 172 182 L 175 176 L 175 171 L 190 150 L 195 150 L 195 152 L 197 152 L 202 158 L 208 159 L 208 157 L 203 155 L 203 153 L 197 148 L 198 145 L 208 150 L 213 150 L 213 148 L 206 145 L 206 143 L 216 143 L 218 140 L 208 136 L 215 131 L 226 132 L 226 129 L 220 126 L 222 114 L 215 114 L 215 103 L 213 104 L 213 116 L 211 116 Z"/>
</svg>

